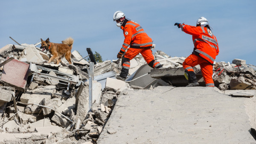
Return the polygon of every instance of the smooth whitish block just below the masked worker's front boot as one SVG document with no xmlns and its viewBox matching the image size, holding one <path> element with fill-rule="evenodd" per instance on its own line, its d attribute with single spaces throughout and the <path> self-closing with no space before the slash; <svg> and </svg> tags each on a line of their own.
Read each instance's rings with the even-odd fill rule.
<svg viewBox="0 0 256 144">
<path fill-rule="evenodd" d="M 111 88 L 118 91 L 118 89 L 128 88 L 128 86 L 124 81 L 113 79 L 113 78 L 107 78 L 105 88 Z"/>
</svg>

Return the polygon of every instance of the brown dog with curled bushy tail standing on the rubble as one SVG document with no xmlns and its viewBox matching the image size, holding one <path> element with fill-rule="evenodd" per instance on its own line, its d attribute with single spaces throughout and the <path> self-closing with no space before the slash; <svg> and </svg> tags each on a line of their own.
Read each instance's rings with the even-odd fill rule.
<svg viewBox="0 0 256 144">
<path fill-rule="evenodd" d="M 52 54 L 48 63 L 53 59 L 56 59 L 58 64 L 61 62 L 61 58 L 65 56 L 66 60 L 71 64 L 71 49 L 74 42 L 73 38 L 69 37 L 66 40 L 63 40 L 62 43 L 51 43 L 49 38 L 45 41 L 41 39 L 41 42 L 40 49 L 43 49 L 43 51 L 47 49 Z"/>
</svg>

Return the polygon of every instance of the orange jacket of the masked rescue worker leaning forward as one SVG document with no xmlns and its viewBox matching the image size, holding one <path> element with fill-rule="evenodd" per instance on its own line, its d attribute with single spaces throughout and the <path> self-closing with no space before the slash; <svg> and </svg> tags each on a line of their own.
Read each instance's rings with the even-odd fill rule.
<svg viewBox="0 0 256 144">
<path fill-rule="evenodd" d="M 121 51 L 125 52 L 128 46 L 137 49 L 152 47 L 152 39 L 148 37 L 144 29 L 138 23 L 125 19 L 121 29 L 125 36 Z"/>
</svg>

